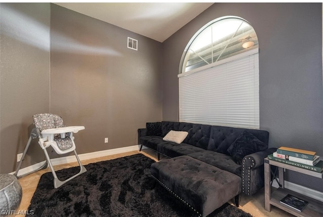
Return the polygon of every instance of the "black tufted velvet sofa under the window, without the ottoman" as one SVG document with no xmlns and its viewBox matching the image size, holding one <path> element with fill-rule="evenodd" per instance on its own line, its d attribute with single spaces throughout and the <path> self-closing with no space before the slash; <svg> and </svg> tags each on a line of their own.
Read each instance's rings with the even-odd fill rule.
<svg viewBox="0 0 323 217">
<path fill-rule="evenodd" d="M 186 131 L 181 143 L 165 141 L 169 131 Z M 241 177 L 241 191 L 252 195 L 264 185 L 263 159 L 276 151 L 267 149 L 269 133 L 186 122 L 148 122 L 138 129 L 138 144 L 168 158 L 189 156 Z M 180 166 L 180 165 L 179 165 Z"/>
</svg>

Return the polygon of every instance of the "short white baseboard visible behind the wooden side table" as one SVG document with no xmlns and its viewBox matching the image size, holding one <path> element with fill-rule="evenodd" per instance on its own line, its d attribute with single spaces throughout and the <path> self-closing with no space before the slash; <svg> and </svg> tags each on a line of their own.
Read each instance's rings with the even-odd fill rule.
<svg viewBox="0 0 323 217">
<path fill-rule="evenodd" d="M 277 178 L 277 179 L 279 181 L 279 178 Z M 273 182 L 272 186 L 275 188 L 279 188 L 279 185 L 276 180 Z M 298 184 L 288 182 L 288 181 L 284 182 L 284 187 L 289 190 L 295 191 L 299 194 L 303 194 L 305 196 L 308 196 L 308 197 L 311 197 L 311 198 L 314 198 L 316 200 L 323 202 L 323 192 L 320 192 L 320 191 L 317 191 L 317 190 L 314 190 L 311 188 L 307 188 L 302 185 L 298 185 Z"/>
</svg>

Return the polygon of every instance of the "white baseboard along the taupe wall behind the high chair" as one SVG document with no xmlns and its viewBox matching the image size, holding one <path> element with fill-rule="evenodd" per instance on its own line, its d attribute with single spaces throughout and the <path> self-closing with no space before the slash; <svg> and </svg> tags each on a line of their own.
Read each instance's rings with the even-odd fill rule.
<svg viewBox="0 0 323 217">
<path fill-rule="evenodd" d="M 91 153 L 86 153 L 86 154 L 80 154 L 78 155 L 80 160 L 89 160 L 93 158 L 99 158 L 99 157 L 104 157 L 104 156 L 109 156 L 109 155 L 116 155 L 116 154 L 121 154 L 121 153 L 126 153 L 126 152 L 132 152 L 132 151 L 138 151 L 138 145 L 136 146 L 128 146 L 128 147 L 123 147 L 123 148 L 118 148 L 118 149 L 109 149 L 109 150 L 103 150 L 103 151 L 98 151 L 98 152 L 91 152 Z M 62 158 L 53 158 L 50 159 L 51 164 L 53 166 L 55 165 L 60 165 L 60 164 L 68 164 L 68 163 L 73 163 L 77 162 L 75 155 L 72 156 L 66 156 Z M 35 171 L 36 169 L 40 168 L 45 161 L 39 162 L 37 164 L 33 164 L 31 166 L 22 168 L 19 170 L 19 173 L 17 176 L 22 176 L 23 174 L 30 173 L 32 171 Z M 15 174 L 16 171 L 10 173 L 10 174 Z"/>
</svg>

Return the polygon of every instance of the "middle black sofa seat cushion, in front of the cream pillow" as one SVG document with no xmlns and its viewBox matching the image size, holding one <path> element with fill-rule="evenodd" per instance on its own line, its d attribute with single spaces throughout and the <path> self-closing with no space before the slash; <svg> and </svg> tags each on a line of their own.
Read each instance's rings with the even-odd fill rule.
<svg viewBox="0 0 323 217">
<path fill-rule="evenodd" d="M 192 146 L 187 143 L 177 144 L 171 141 L 164 141 L 157 144 L 157 152 L 166 155 L 169 158 L 175 158 L 182 155 L 188 155 L 194 152 L 200 152 L 204 149 Z"/>
</svg>

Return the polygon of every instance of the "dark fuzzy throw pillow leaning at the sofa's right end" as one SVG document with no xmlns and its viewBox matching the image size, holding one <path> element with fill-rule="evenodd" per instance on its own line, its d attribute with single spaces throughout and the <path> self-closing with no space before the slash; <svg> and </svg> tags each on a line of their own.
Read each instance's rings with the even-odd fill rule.
<svg viewBox="0 0 323 217">
<path fill-rule="evenodd" d="M 243 131 L 228 148 L 228 152 L 234 162 L 241 165 L 242 159 L 250 154 L 264 151 L 268 144 L 260 141 L 256 136 L 247 130 Z"/>
</svg>

